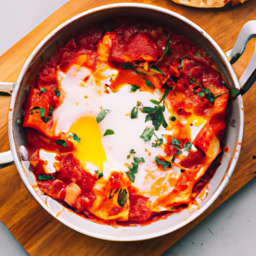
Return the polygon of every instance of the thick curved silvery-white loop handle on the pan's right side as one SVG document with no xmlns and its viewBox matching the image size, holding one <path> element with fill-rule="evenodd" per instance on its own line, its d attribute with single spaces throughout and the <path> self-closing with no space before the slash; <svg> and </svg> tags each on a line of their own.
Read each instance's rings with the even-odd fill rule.
<svg viewBox="0 0 256 256">
<path fill-rule="evenodd" d="M 246 22 L 240 30 L 236 42 L 231 50 L 226 52 L 230 57 L 230 63 L 233 64 L 243 53 L 247 42 L 256 37 L 256 20 Z M 239 78 L 240 93 L 243 95 L 251 85 L 256 81 L 256 41 L 254 52 L 251 59 Z"/>
</svg>

